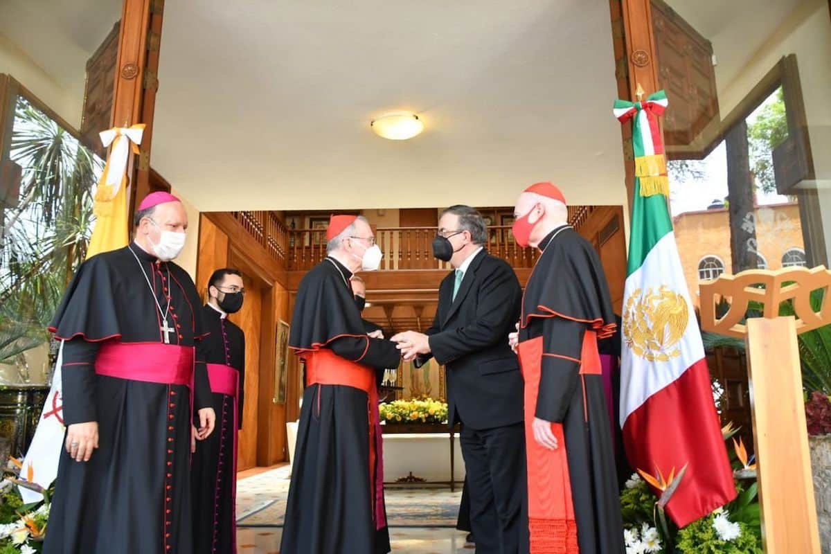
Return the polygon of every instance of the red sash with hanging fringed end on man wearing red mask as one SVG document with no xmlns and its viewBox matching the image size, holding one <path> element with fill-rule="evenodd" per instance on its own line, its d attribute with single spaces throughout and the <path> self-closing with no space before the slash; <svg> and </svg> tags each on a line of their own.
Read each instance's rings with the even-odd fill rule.
<svg viewBox="0 0 831 554">
<path fill-rule="evenodd" d="M 519 365 L 525 380 L 525 448 L 528 463 L 528 517 L 531 554 L 579 552 L 577 521 L 574 517 L 568 456 L 563 424 L 551 424 L 558 448 L 549 450 L 534 439 L 534 414 L 537 409 L 539 378 L 542 372 L 543 337 L 519 343 Z M 583 336 L 580 375 L 601 373 L 597 355 L 597 334 L 586 331 Z M 588 419 L 585 386 L 583 414 Z"/>
</svg>

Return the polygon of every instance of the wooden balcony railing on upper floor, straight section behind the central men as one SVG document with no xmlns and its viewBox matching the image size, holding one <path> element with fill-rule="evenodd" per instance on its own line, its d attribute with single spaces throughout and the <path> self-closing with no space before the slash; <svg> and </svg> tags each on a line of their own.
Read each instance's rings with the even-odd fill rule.
<svg viewBox="0 0 831 554">
<path fill-rule="evenodd" d="M 512 267 L 534 267 L 537 251 L 520 248 L 514 242 L 511 228 L 488 228 L 487 248 L 494 256 L 502 257 Z M 377 228 L 376 243 L 384 252 L 381 270 L 441 269 L 450 264 L 433 257 L 431 243 L 435 227 L 429 228 Z M 322 229 L 298 229 L 288 231 L 288 270 L 307 271 L 326 257 L 326 231 Z"/>
</svg>

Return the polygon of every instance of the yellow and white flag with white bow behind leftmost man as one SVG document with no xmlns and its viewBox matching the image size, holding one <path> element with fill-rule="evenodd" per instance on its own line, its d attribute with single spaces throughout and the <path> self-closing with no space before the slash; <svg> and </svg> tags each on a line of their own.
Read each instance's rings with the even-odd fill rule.
<svg viewBox="0 0 831 554">
<path fill-rule="evenodd" d="M 141 143 L 144 129 L 145 125 L 140 124 L 101 132 L 101 142 L 105 147 L 112 145 L 112 149 L 96 188 L 93 207 L 96 223 L 86 249 L 87 259 L 101 252 L 127 246 L 129 214 L 126 169 L 130 152 L 138 154 L 138 145 Z M 66 431 L 63 425 L 61 395 L 62 358 L 63 342 L 58 349 L 55 374 L 52 375 L 52 389 L 49 390 L 46 404 L 43 406 L 32 444 L 22 462 L 21 479 L 33 485 L 32 488 L 27 488 L 25 484 L 20 486 L 23 503 L 40 502 L 43 495 L 37 492 L 37 487 L 48 488 L 57 477 L 57 465 Z"/>
</svg>

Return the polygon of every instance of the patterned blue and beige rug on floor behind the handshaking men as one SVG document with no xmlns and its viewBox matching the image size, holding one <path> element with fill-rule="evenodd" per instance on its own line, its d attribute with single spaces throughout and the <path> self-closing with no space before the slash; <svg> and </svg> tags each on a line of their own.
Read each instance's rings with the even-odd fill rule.
<svg viewBox="0 0 831 554">
<path fill-rule="evenodd" d="M 291 468 L 272 469 L 237 483 L 239 527 L 283 527 Z M 455 527 L 461 487 L 386 485 L 390 527 Z"/>
</svg>

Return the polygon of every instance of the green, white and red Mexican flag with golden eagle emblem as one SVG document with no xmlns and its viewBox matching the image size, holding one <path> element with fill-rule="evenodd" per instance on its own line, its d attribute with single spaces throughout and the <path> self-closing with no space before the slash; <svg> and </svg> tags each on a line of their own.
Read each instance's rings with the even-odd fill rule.
<svg viewBox="0 0 831 554">
<path fill-rule="evenodd" d="M 680 527 L 735 498 L 701 331 L 666 206 L 666 158 L 657 116 L 663 91 L 615 102 L 632 120 L 635 192 L 626 287 L 620 421 L 627 458 L 653 483 L 682 473 L 666 512 Z M 661 491 L 656 490 L 656 493 Z"/>
</svg>

